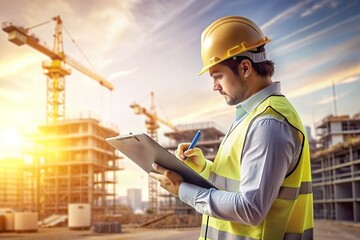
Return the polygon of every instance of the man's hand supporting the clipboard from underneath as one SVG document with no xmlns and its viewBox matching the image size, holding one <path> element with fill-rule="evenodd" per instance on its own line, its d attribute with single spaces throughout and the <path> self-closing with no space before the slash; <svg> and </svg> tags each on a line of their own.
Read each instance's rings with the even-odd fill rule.
<svg viewBox="0 0 360 240">
<path fill-rule="evenodd" d="M 171 194 L 179 196 L 179 187 L 180 184 L 184 181 L 182 176 L 156 163 L 153 163 L 152 167 L 159 173 L 150 172 L 150 177 L 159 181 L 160 186 Z"/>
</svg>

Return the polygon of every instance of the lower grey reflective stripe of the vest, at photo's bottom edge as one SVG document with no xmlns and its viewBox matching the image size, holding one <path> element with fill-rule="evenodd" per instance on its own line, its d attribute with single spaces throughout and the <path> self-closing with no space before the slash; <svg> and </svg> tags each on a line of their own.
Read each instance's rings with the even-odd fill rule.
<svg viewBox="0 0 360 240">
<path fill-rule="evenodd" d="M 204 229 L 206 226 L 203 226 Z M 201 237 L 205 238 L 205 232 L 201 231 Z M 239 236 L 229 232 L 221 231 L 216 228 L 208 226 L 207 238 L 221 239 L 221 240 L 257 240 L 255 238 Z M 306 229 L 303 233 L 285 233 L 284 240 L 312 240 L 313 228 Z"/>
</svg>

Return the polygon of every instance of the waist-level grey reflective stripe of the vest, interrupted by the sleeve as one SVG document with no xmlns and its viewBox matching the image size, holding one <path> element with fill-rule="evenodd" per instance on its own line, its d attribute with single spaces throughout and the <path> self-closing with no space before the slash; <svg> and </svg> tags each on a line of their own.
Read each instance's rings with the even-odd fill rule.
<svg viewBox="0 0 360 240">
<path fill-rule="evenodd" d="M 211 172 L 209 176 L 210 182 L 214 183 L 220 189 L 227 189 L 228 191 L 239 191 L 240 181 L 226 178 Z M 300 188 L 284 187 L 282 186 L 277 198 L 285 200 L 295 200 L 299 194 L 312 193 L 311 182 L 302 182 Z"/>
</svg>

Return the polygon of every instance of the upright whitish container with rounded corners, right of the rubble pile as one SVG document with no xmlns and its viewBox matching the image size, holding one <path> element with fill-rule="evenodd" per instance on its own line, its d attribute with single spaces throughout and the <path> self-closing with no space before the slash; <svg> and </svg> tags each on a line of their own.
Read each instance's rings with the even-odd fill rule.
<svg viewBox="0 0 360 240">
<path fill-rule="evenodd" d="M 72 203 L 68 208 L 70 229 L 89 229 L 91 227 L 91 207 L 87 203 Z"/>
</svg>

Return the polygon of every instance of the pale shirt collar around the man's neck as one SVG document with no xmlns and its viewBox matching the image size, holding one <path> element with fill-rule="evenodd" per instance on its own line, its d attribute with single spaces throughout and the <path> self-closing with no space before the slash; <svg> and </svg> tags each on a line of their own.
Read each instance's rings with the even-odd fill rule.
<svg viewBox="0 0 360 240">
<path fill-rule="evenodd" d="M 281 94 L 280 82 L 273 82 L 266 88 L 261 89 L 245 101 L 236 105 L 236 121 L 242 119 L 247 113 L 253 111 L 260 103 L 271 95 Z"/>
</svg>

